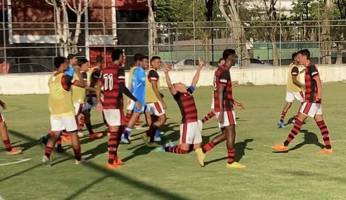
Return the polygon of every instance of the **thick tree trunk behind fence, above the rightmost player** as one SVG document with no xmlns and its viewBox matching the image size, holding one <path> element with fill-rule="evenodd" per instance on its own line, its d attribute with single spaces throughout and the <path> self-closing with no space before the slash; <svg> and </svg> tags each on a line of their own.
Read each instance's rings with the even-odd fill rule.
<svg viewBox="0 0 346 200">
<path fill-rule="evenodd" d="M 323 15 L 322 15 L 322 32 L 321 32 L 321 55 L 322 60 L 321 63 L 323 65 L 331 64 L 331 22 L 329 22 L 331 18 L 331 8 L 333 6 L 333 0 L 326 0 L 326 5 L 324 7 Z"/>
</svg>

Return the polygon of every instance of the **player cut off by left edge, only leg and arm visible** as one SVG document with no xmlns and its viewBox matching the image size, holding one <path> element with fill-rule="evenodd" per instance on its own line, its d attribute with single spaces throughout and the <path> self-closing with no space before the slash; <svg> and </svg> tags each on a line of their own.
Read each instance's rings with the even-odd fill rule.
<svg viewBox="0 0 346 200">
<path fill-rule="evenodd" d="M 7 108 L 6 104 L 2 102 L 1 100 L 0 100 L 0 106 L 2 107 L 2 109 Z M 15 154 L 20 154 L 22 152 L 22 149 L 11 146 L 10 138 L 8 137 L 8 133 L 7 133 L 5 118 L 1 112 L 0 112 L 0 135 L 5 145 L 6 155 L 11 156 Z"/>
</svg>

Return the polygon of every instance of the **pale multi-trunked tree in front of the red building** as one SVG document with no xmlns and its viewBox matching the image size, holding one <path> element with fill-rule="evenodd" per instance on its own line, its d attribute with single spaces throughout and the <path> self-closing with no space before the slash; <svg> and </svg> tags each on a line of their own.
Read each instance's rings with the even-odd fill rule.
<svg viewBox="0 0 346 200">
<path fill-rule="evenodd" d="M 47 4 L 54 7 L 56 13 L 56 32 L 58 33 L 61 56 L 66 57 L 69 53 L 78 53 L 77 44 L 81 34 L 82 15 L 87 11 L 91 1 L 93 0 L 46 0 Z M 70 30 L 68 9 L 77 15 L 76 28 L 73 34 L 72 30 Z M 61 22 L 61 19 L 63 22 Z"/>
</svg>

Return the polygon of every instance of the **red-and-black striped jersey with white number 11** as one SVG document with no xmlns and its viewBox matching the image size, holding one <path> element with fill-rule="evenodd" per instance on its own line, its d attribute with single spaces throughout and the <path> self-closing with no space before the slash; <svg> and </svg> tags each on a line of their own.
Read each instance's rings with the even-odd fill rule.
<svg viewBox="0 0 346 200">
<path fill-rule="evenodd" d="M 101 83 L 103 91 L 103 109 L 122 109 L 124 100 L 120 83 L 125 82 L 124 69 L 119 65 L 108 65 L 101 71 Z"/>
</svg>

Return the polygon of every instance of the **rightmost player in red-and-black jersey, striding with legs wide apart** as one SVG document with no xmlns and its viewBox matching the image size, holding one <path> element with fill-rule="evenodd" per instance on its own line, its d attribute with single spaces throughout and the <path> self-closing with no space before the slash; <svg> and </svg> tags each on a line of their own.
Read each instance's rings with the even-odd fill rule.
<svg viewBox="0 0 346 200">
<path fill-rule="evenodd" d="M 300 113 L 295 118 L 295 124 L 292 131 L 288 135 L 285 142 L 272 146 L 272 148 L 279 152 L 287 152 L 288 145 L 297 136 L 302 128 L 302 124 L 311 116 L 315 119 L 317 126 L 319 127 L 325 148 L 321 149 L 321 154 L 331 154 L 333 149 L 331 147 L 331 140 L 329 138 L 329 131 L 326 124 L 323 121 L 322 115 L 322 83 L 319 78 L 319 70 L 310 61 L 310 52 L 307 49 L 298 51 L 298 61 L 305 67 L 305 102 L 300 108 Z"/>
</svg>

